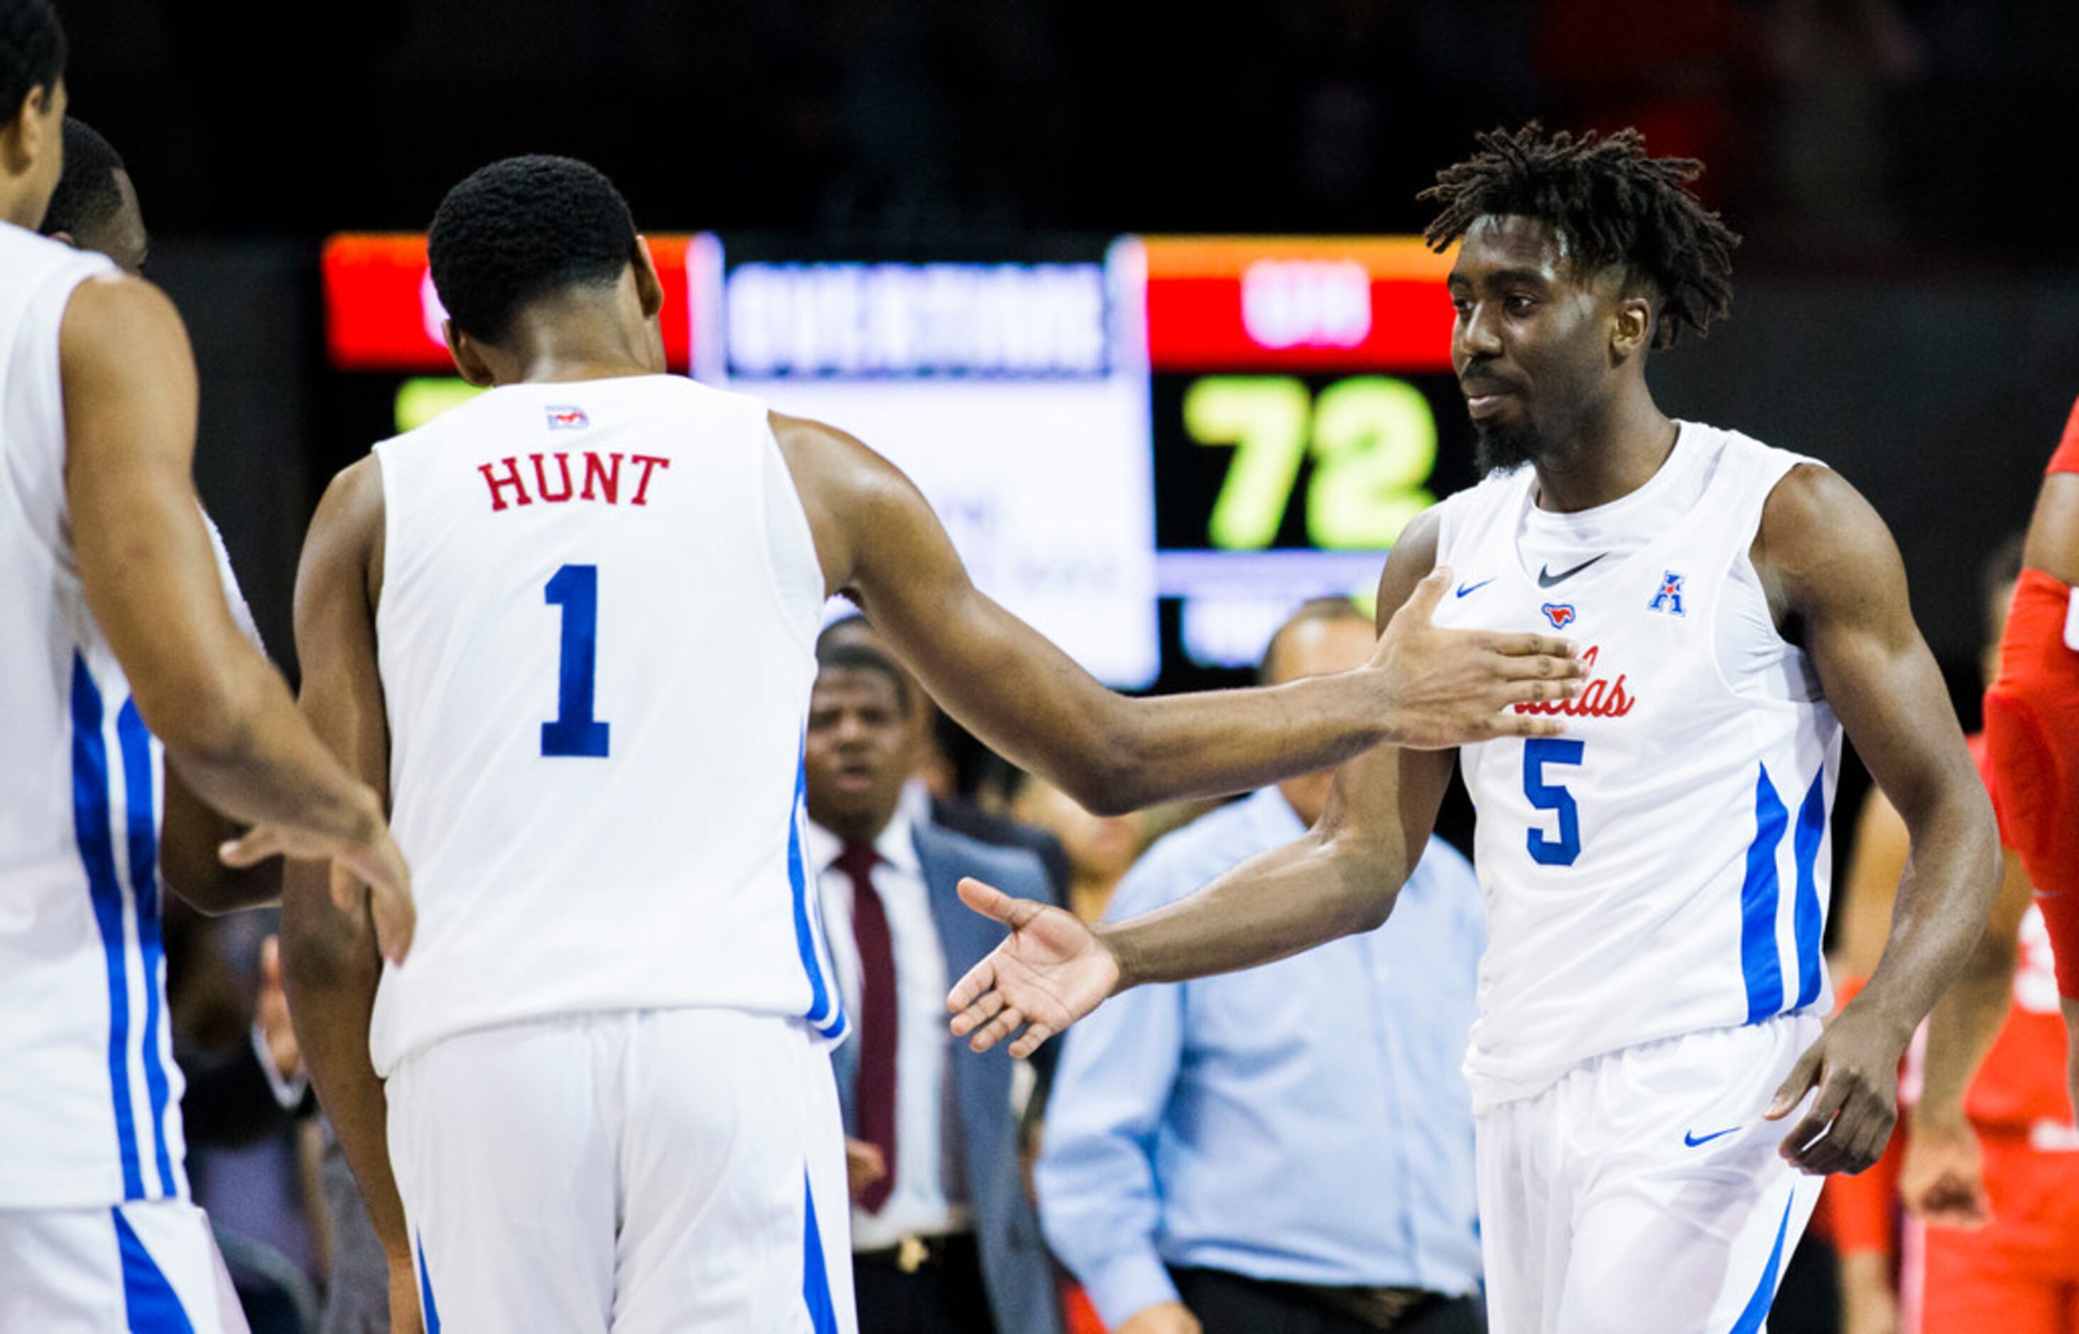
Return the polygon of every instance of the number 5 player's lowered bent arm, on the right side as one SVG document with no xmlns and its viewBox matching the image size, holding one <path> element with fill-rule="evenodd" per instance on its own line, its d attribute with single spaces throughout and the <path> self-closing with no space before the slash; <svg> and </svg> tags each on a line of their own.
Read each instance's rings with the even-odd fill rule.
<svg viewBox="0 0 2079 1334">
<path fill-rule="evenodd" d="M 1898 546 L 1869 501 L 1832 470 L 1794 468 L 1763 509 L 1755 569 L 1913 842 L 1877 970 L 1767 1112 L 1786 1118 L 1817 1089 L 1784 1157 L 1813 1174 L 1861 1172 L 1898 1118 L 1898 1058 L 1913 1029 L 1985 933 L 2000 835 L 1942 671 L 1913 623 Z"/>
</svg>

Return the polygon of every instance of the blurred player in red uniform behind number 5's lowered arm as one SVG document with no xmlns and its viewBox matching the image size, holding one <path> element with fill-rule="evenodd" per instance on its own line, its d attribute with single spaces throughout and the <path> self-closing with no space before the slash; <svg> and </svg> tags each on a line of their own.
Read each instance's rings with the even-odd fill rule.
<svg viewBox="0 0 2079 1334">
<path fill-rule="evenodd" d="M 2008 542 L 1988 578 L 1988 677 L 2019 569 L 2021 546 Z M 1983 771 L 1983 738 L 1971 738 L 1971 752 Z M 1846 883 L 1844 993 L 1881 948 L 1906 856 L 1904 821 L 1871 792 Z M 1944 1089 L 1960 1072 L 1923 1068 L 1915 1045 L 1900 1083 L 1902 1101 L 1919 1103 L 1906 1132 L 1873 1170 L 1830 1186 L 1846 1334 L 2079 1328 L 2079 1128 L 2062 1080 L 2050 941 L 2012 850 L 1985 943 L 1929 1024 L 1973 991 L 2004 1004 L 2006 1024 L 1969 1093 Z M 1950 1124 L 1958 1110 L 1967 1126 Z M 1925 1222 L 1896 1226 L 1900 1195 Z"/>
</svg>

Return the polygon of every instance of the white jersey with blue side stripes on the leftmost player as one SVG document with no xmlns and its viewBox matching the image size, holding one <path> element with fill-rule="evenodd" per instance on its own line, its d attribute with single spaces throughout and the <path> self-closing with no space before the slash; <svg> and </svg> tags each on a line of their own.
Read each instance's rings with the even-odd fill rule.
<svg viewBox="0 0 2079 1334">
<path fill-rule="evenodd" d="M 187 1193 L 162 752 L 79 586 L 58 330 L 114 272 L 0 224 L 0 1209 Z"/>
</svg>

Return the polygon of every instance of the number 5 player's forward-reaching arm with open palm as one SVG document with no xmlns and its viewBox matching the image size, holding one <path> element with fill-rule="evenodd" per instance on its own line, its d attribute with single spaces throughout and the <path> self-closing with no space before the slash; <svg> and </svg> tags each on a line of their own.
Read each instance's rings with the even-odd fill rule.
<svg viewBox="0 0 2079 1334">
<path fill-rule="evenodd" d="M 1378 580 L 1380 623 L 1414 596 L 1435 559 L 1435 519 L 1416 519 Z M 1422 858 L 1453 758 L 1449 750 L 1364 754 L 1337 773 L 1326 810 L 1304 837 L 1125 923 L 1089 929 L 1058 908 L 963 881 L 960 898 L 1012 933 L 952 989 L 952 1033 L 971 1035 L 977 1051 L 1015 1037 L 1010 1053 L 1029 1056 L 1114 991 L 1268 964 L 1380 925 Z"/>
</svg>

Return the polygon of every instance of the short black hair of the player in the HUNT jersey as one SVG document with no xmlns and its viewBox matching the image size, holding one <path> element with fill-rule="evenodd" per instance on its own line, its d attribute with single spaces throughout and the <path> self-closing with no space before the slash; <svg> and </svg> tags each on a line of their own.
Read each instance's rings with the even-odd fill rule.
<svg viewBox="0 0 2079 1334">
<path fill-rule="evenodd" d="M 617 283 L 636 258 L 636 224 L 599 168 L 528 154 L 480 166 L 447 191 L 426 251 L 447 318 L 497 343 L 530 301 Z"/>
</svg>

